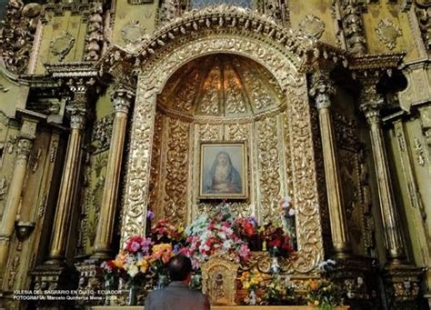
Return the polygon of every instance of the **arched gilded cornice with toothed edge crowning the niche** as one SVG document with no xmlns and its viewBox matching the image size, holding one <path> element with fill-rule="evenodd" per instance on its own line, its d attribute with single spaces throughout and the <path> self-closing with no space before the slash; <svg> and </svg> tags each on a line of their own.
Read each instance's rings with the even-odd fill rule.
<svg viewBox="0 0 431 310">
<path fill-rule="evenodd" d="M 255 11 L 219 5 L 185 12 L 145 39 L 140 49 L 127 50 L 112 45 L 97 67 L 104 67 L 111 75 L 125 70 L 139 71 L 142 65 L 157 61 L 162 51 L 209 35 L 238 35 L 271 45 L 299 72 L 311 72 L 321 61 L 348 65 L 346 51 L 320 43 L 301 31 L 282 27 L 274 19 Z"/>
</svg>

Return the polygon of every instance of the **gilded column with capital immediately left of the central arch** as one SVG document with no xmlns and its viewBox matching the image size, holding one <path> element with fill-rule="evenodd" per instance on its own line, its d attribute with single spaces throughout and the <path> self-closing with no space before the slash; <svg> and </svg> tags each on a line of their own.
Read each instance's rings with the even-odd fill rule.
<svg viewBox="0 0 431 310">
<path fill-rule="evenodd" d="M 112 96 L 115 116 L 93 258 L 106 259 L 111 254 L 118 185 L 120 182 L 123 147 L 125 145 L 125 128 L 132 98 L 133 94 L 126 90 L 117 90 Z"/>
</svg>

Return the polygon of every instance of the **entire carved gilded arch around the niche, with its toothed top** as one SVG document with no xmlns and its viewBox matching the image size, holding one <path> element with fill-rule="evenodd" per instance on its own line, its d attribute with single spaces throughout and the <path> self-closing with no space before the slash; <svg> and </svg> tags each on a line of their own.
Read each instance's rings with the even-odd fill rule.
<svg viewBox="0 0 431 310">
<path fill-rule="evenodd" d="M 206 21 L 210 25 L 205 26 Z M 217 26 L 212 27 L 215 21 Z M 232 26 L 235 21 L 241 25 Z M 289 42 L 294 42 L 291 48 L 286 46 Z M 204 55 L 235 54 L 263 65 L 289 98 L 286 129 L 292 155 L 296 226 L 301 229 L 297 230 L 297 255 L 283 268 L 293 273 L 316 270 L 323 259 L 323 242 L 306 75 L 298 71 L 305 53 L 298 46 L 303 42 L 261 16 L 238 9 L 210 9 L 165 26 L 146 43 L 140 56 L 141 65 L 136 70 L 138 82 L 125 171 L 122 243 L 131 235 L 145 234 L 157 95 L 162 93 L 169 77 L 187 62 Z"/>
</svg>

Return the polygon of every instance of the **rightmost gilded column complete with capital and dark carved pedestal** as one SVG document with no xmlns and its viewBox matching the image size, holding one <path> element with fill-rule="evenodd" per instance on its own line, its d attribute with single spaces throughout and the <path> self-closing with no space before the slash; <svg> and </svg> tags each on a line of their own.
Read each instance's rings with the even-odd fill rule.
<svg viewBox="0 0 431 310">
<path fill-rule="evenodd" d="M 376 169 L 377 190 L 382 215 L 387 263 L 383 271 L 389 308 L 396 309 L 416 304 L 420 275 L 423 269 L 406 262 L 404 235 L 396 208 L 395 195 L 390 178 L 386 145 L 382 131 L 380 109 L 384 105 L 383 95 L 376 91 L 381 75 L 361 76 L 360 109 L 369 125 L 371 147 Z"/>
</svg>

